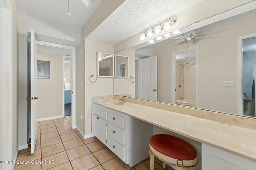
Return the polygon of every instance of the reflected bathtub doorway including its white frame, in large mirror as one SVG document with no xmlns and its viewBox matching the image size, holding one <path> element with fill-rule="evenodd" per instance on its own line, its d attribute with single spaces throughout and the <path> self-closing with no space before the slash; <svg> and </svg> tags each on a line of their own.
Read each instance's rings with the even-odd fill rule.
<svg viewBox="0 0 256 170">
<path fill-rule="evenodd" d="M 172 52 L 172 104 L 198 107 L 198 47 Z"/>
</svg>

